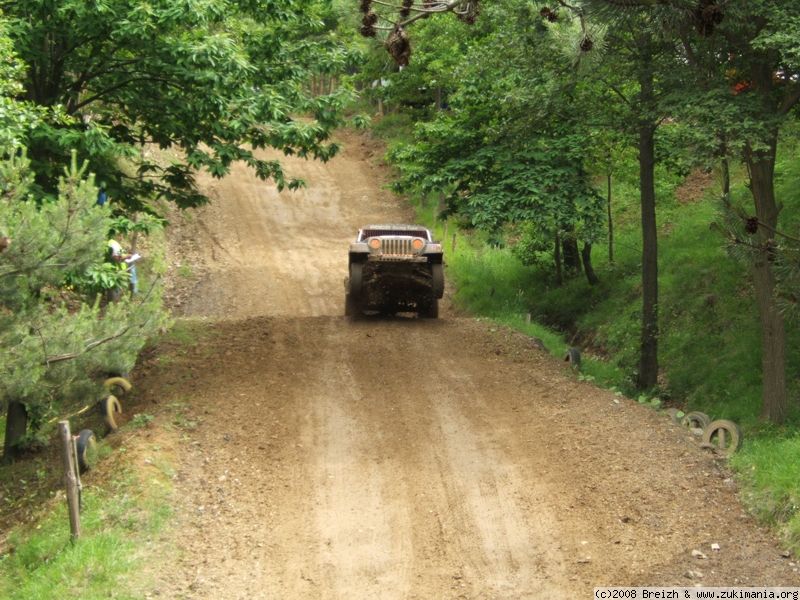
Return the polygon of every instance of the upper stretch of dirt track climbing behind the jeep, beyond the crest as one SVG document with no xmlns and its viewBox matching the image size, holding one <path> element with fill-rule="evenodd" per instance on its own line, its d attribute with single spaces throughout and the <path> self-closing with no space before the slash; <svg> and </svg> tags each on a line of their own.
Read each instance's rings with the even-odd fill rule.
<svg viewBox="0 0 800 600">
<path fill-rule="evenodd" d="M 245 165 L 221 179 L 200 175 L 211 203 L 172 234 L 171 254 L 186 257 L 202 277 L 185 294 L 178 313 L 188 317 L 240 319 L 264 315 L 332 316 L 342 313 L 346 248 L 365 222 L 410 218 L 385 190 L 348 137 L 329 163 L 280 158 L 306 186 L 278 192 Z M 175 222 L 180 222 L 176 218 Z M 342 249 L 344 253 L 342 252 Z"/>
</svg>

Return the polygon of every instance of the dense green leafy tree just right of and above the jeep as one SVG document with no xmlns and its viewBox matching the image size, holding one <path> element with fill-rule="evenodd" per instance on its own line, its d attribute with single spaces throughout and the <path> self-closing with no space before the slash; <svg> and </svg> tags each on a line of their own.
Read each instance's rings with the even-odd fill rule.
<svg viewBox="0 0 800 600">
<path fill-rule="evenodd" d="M 393 153 L 399 188 L 443 192 L 449 213 L 492 232 L 525 224 L 528 254 L 546 247 L 557 278 L 583 270 L 596 283 L 591 247 L 603 206 L 584 167 L 573 57 L 538 16 L 530 18 L 526 3 L 493 6 L 485 17 L 456 72 L 449 110 L 419 125 L 415 143 Z"/>
</svg>

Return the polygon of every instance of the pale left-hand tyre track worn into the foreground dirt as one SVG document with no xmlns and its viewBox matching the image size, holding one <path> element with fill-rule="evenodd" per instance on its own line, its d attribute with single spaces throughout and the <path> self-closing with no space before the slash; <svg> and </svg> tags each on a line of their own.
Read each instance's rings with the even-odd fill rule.
<svg viewBox="0 0 800 600">
<path fill-rule="evenodd" d="M 331 340 L 331 330 L 341 323 L 328 325 L 324 334 Z M 320 562 L 331 597 L 349 597 L 354 589 L 365 598 L 405 596 L 411 548 L 407 510 L 392 502 L 387 473 L 373 459 L 379 446 L 375 430 L 351 408 L 358 388 L 341 354 L 342 347 L 328 344 L 320 357 L 324 386 L 312 400 L 316 445 L 321 448 L 312 466 L 317 474 Z"/>
</svg>

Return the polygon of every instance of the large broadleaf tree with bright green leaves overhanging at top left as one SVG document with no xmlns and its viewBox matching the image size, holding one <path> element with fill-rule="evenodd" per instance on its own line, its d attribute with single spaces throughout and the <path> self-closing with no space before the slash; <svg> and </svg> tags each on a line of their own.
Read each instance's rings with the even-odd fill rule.
<svg viewBox="0 0 800 600">
<path fill-rule="evenodd" d="M 327 159 L 338 96 L 311 98 L 311 73 L 347 55 L 325 34 L 317 0 L 37 0 L 3 2 L 28 65 L 25 96 L 61 107 L 30 133 L 42 193 L 53 194 L 77 150 L 110 195 L 131 207 L 163 196 L 205 201 L 197 169 L 220 177 L 234 161 L 279 187 L 296 186 L 266 147 Z M 313 120 L 295 115 L 310 114 Z M 168 164 L 145 144 L 179 152 Z M 134 172 L 126 164 L 134 163 Z"/>
</svg>

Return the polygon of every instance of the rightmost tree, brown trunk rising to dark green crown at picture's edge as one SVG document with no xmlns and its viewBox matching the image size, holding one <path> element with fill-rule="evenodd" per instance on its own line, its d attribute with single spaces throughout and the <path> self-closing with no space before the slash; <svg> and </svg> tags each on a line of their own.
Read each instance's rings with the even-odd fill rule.
<svg viewBox="0 0 800 600">
<path fill-rule="evenodd" d="M 785 326 L 778 300 L 774 248 L 781 204 L 775 197 L 775 158 L 781 127 L 800 102 L 800 13 L 790 0 L 728 3 L 713 35 L 683 40 L 690 64 L 713 72 L 701 102 L 716 115 L 726 149 L 747 167 L 757 220 L 752 273 L 761 321 L 762 416 L 782 422 L 788 411 Z"/>
</svg>

